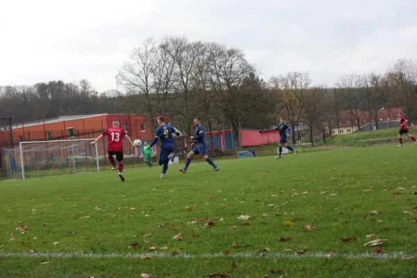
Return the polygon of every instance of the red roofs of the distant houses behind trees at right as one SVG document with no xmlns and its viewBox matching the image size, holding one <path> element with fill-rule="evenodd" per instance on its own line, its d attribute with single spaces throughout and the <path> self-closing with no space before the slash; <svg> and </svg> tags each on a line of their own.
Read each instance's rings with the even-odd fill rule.
<svg viewBox="0 0 417 278">
<path fill-rule="evenodd" d="M 352 111 L 353 115 L 351 115 L 350 111 L 341 111 L 338 115 L 339 120 L 339 126 L 340 127 L 346 127 L 346 126 L 357 126 L 357 120 L 355 115 L 360 117 L 360 126 L 364 126 L 368 124 L 371 120 L 371 122 L 375 122 L 373 115 L 377 113 L 377 111 L 371 111 L 371 115 L 369 117 L 368 111 L 361 111 L 361 110 L 354 110 Z M 401 108 L 390 108 L 389 111 L 387 108 L 384 108 L 382 111 L 378 111 L 378 122 L 389 122 L 389 121 L 395 121 L 398 117 L 398 112 L 402 112 Z M 332 116 L 332 120 L 330 120 L 330 124 L 332 126 L 337 126 L 337 117 Z"/>
</svg>

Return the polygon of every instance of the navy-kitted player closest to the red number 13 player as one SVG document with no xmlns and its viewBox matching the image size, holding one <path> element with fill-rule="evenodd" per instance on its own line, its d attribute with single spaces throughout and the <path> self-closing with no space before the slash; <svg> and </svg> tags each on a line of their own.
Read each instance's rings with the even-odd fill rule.
<svg viewBox="0 0 417 278">
<path fill-rule="evenodd" d="M 165 117 L 159 116 L 158 117 L 158 129 L 156 129 L 155 132 L 155 138 L 152 141 L 151 145 L 149 145 L 149 148 L 152 148 L 156 142 L 158 142 L 158 139 L 161 138 L 161 153 L 159 154 L 159 165 L 163 165 L 162 167 L 162 174 L 161 179 L 165 177 L 165 173 L 168 169 L 168 162 L 174 161 L 174 138 L 172 137 L 172 134 L 175 134 L 176 136 L 181 136 L 181 133 L 175 129 L 174 127 L 165 124 Z"/>
</svg>

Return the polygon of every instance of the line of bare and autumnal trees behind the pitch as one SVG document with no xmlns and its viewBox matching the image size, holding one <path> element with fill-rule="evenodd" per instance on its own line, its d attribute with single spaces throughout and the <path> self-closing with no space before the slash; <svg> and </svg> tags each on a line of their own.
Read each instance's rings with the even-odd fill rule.
<svg viewBox="0 0 417 278">
<path fill-rule="evenodd" d="M 397 60 L 384 73 L 341 76 L 334 85 L 313 85 L 307 72 L 288 72 L 264 81 L 241 49 L 186 37 L 148 38 L 136 47 L 116 76 L 117 90 L 97 92 L 86 80 L 50 81 L 33 86 L 0 87 L 2 116 L 14 122 L 60 115 L 138 113 L 156 126 L 156 116 L 193 134 L 193 118 L 208 131 L 231 129 L 238 144 L 241 128 L 268 129 L 286 117 L 295 128 L 332 134 L 336 111 L 350 111 L 359 123 L 363 113 L 383 106 L 400 107 L 417 119 L 417 61 Z M 293 133 L 295 141 L 295 133 Z"/>
</svg>

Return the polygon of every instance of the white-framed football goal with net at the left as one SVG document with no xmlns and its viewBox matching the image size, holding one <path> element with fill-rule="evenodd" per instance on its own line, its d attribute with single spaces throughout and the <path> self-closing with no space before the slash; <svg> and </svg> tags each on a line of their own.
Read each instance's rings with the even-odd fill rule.
<svg viewBox="0 0 417 278">
<path fill-rule="evenodd" d="M 94 139 L 20 142 L 3 149 L 8 179 L 99 171 Z"/>
</svg>

